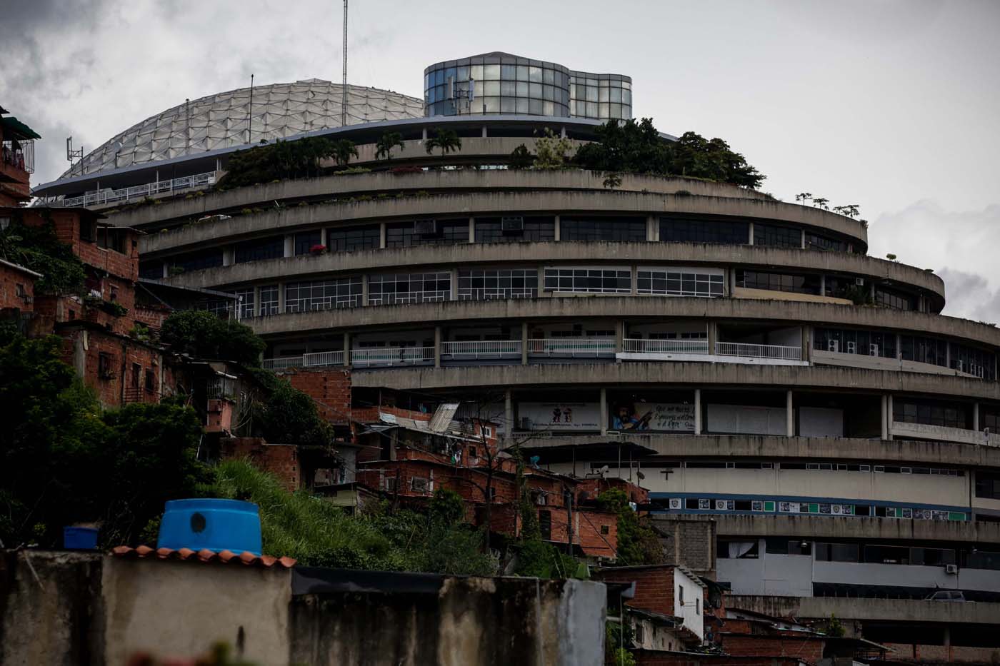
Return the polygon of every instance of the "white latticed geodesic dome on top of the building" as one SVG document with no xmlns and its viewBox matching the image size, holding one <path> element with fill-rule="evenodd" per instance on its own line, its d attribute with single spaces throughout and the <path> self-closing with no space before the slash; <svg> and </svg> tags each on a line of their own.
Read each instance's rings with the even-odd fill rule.
<svg viewBox="0 0 1000 666">
<path fill-rule="evenodd" d="M 248 141 L 250 88 L 194 99 L 115 135 L 60 177 L 340 127 L 341 102 L 341 84 L 322 79 L 254 86 L 253 136 Z M 347 86 L 348 125 L 423 115 L 422 99 L 378 88 Z"/>
</svg>

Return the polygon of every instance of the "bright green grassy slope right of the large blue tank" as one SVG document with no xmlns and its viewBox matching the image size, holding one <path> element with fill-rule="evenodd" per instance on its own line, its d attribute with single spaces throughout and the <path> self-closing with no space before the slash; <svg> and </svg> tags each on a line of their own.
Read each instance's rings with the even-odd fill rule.
<svg viewBox="0 0 1000 666">
<path fill-rule="evenodd" d="M 411 511 L 348 516 L 321 497 L 290 493 L 246 461 L 218 467 L 207 495 L 254 502 L 260 507 L 263 549 L 300 564 L 388 571 L 492 575 L 482 555 L 481 534 L 463 524 Z M 447 512 L 445 512 L 447 513 Z"/>
</svg>

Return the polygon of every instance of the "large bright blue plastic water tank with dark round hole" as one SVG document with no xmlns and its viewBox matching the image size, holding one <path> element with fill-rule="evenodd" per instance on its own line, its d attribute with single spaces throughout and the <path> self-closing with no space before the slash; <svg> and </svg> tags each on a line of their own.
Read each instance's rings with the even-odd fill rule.
<svg viewBox="0 0 1000 666">
<path fill-rule="evenodd" d="M 163 512 L 156 546 L 260 555 L 260 510 L 239 500 L 172 500 Z"/>
</svg>

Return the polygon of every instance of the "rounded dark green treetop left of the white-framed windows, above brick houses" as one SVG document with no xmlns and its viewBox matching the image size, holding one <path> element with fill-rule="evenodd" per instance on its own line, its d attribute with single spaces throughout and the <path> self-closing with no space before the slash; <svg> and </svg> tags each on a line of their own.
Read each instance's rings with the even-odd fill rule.
<svg viewBox="0 0 1000 666">
<path fill-rule="evenodd" d="M 183 310 L 167 317 L 160 342 L 181 354 L 260 365 L 264 341 L 246 324 L 220 319 L 207 310 Z"/>
</svg>

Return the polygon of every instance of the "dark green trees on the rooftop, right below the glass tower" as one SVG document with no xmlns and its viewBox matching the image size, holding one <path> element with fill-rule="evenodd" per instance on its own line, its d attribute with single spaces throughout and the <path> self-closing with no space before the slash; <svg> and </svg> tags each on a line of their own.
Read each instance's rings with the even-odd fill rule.
<svg viewBox="0 0 1000 666">
<path fill-rule="evenodd" d="M 596 141 L 580 146 L 576 153 L 576 162 L 584 169 L 687 176 L 749 188 L 759 187 L 764 180 L 722 139 L 685 132 L 677 141 L 665 141 L 650 118 L 625 123 L 609 120 L 596 134 Z"/>
</svg>

